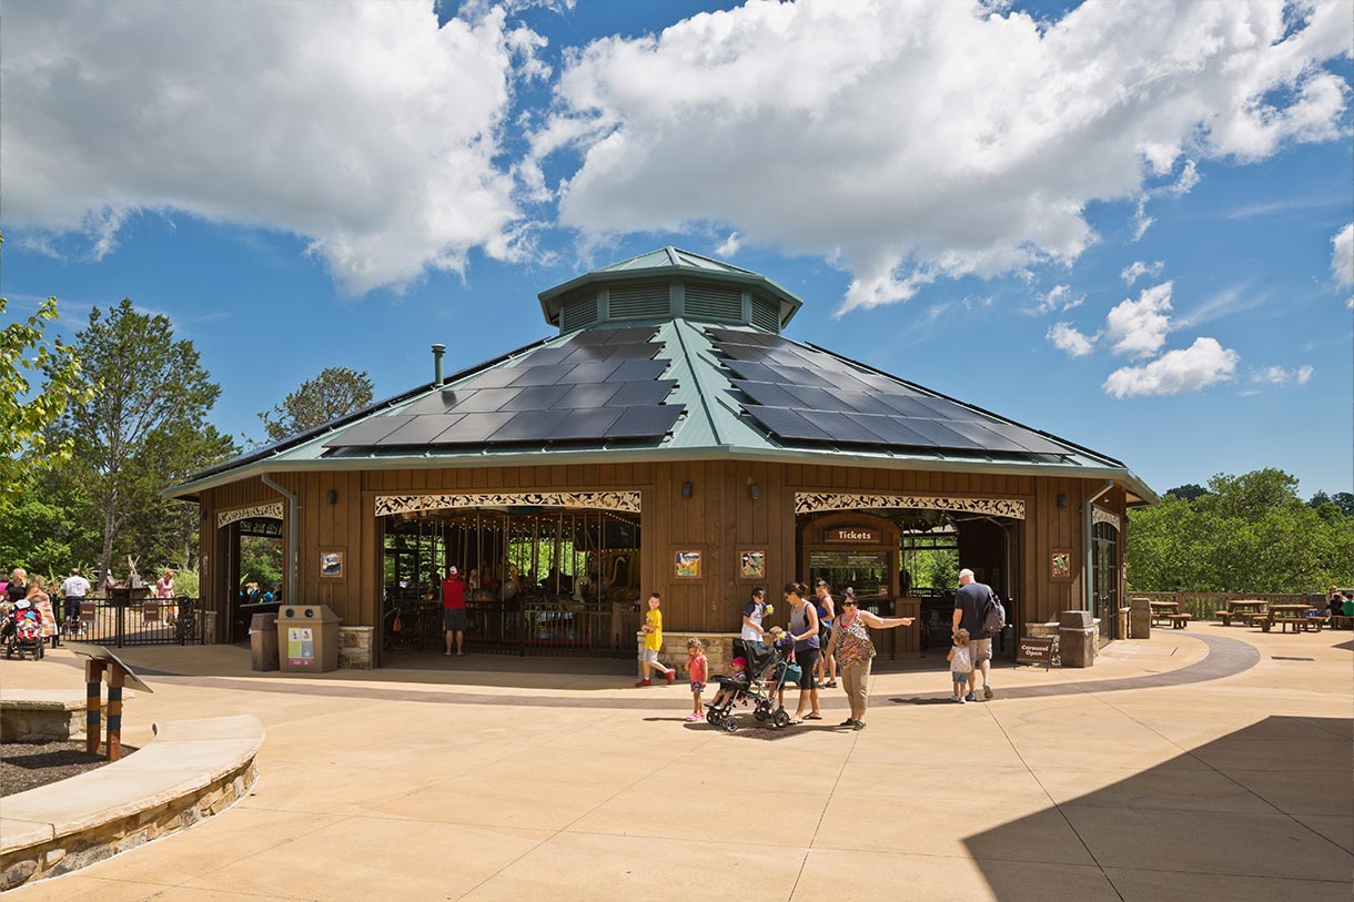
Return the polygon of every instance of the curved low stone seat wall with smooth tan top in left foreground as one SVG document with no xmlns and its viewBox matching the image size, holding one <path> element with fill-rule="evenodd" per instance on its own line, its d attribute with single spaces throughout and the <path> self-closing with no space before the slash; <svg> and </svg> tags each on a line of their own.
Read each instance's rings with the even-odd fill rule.
<svg viewBox="0 0 1354 902">
<path fill-rule="evenodd" d="M 259 777 L 264 734 L 252 715 L 154 729 L 135 754 L 4 799 L 0 893 L 185 830 L 229 809 Z"/>
</svg>

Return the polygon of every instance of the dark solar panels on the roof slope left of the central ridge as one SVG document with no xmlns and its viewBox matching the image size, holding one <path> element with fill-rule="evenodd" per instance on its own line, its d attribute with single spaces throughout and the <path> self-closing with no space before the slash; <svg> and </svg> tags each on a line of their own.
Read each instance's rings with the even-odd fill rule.
<svg viewBox="0 0 1354 902">
<path fill-rule="evenodd" d="M 538 348 L 456 389 L 435 391 L 395 414 L 357 423 L 326 448 L 543 444 L 662 439 L 682 405 L 654 329 L 594 329 Z"/>
</svg>

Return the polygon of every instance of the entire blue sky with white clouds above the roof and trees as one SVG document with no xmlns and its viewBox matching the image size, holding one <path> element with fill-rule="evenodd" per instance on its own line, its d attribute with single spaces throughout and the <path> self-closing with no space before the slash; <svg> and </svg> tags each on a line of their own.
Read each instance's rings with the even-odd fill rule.
<svg viewBox="0 0 1354 902">
<path fill-rule="evenodd" d="M 1159 490 L 1354 488 L 1347 4 L 19 9 L 11 313 L 169 314 L 234 435 L 325 366 L 387 395 L 432 341 L 546 336 L 538 291 L 673 244 Z"/>
</svg>

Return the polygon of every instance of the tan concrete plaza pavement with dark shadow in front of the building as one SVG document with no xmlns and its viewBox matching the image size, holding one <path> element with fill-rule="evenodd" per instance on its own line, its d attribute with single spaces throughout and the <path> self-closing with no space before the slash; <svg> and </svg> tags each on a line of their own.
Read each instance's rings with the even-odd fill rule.
<svg viewBox="0 0 1354 902">
<path fill-rule="evenodd" d="M 306 679 L 233 647 L 129 650 L 167 676 L 127 706 L 127 742 L 255 714 L 263 779 L 7 898 L 1347 901 L 1351 634 L 1196 626 L 1091 670 L 1002 669 L 983 704 L 937 703 L 938 662 L 884 673 L 860 733 L 823 726 L 839 695 L 811 727 L 689 726 L 684 687 L 627 688 L 624 662 Z M 66 654 L 0 680 L 79 684 Z"/>
</svg>

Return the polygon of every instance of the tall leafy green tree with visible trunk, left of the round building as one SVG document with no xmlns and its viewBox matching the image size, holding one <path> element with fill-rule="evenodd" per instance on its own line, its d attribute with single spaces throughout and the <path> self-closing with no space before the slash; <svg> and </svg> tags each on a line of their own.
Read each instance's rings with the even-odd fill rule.
<svg viewBox="0 0 1354 902">
<path fill-rule="evenodd" d="M 103 580 L 129 521 L 164 517 L 165 486 L 236 448 L 207 425 L 221 389 L 168 317 L 139 313 L 126 298 L 107 313 L 95 307 L 74 348 L 99 390 L 69 405 L 54 433 L 76 450 L 64 470 L 96 511 Z"/>
</svg>

